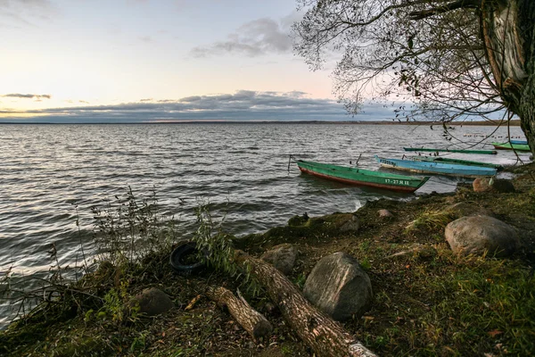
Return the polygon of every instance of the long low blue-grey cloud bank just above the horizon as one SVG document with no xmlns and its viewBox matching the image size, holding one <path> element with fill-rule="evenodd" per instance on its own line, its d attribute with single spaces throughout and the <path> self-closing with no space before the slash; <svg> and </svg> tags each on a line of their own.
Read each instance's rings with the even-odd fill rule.
<svg viewBox="0 0 535 357">
<path fill-rule="evenodd" d="M 150 122 L 158 120 L 347 120 L 342 104 L 304 92 L 194 95 L 178 99 L 110 105 L 81 105 L 2 113 L 3 121 Z"/>
</svg>

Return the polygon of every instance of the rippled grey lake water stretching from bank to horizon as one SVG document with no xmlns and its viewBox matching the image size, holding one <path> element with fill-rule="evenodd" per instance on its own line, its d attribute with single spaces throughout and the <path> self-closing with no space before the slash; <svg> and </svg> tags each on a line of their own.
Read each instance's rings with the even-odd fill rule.
<svg viewBox="0 0 535 357">
<path fill-rule="evenodd" d="M 456 127 L 468 143 L 507 129 Z M 523 134 L 511 128 L 512 136 Z M 504 139 L 505 140 L 505 139 Z M 493 141 L 493 140 L 489 140 Z M 79 260 L 80 238 L 91 250 L 91 207 L 104 207 L 128 186 L 135 195 L 156 191 L 162 212 L 193 230 L 199 197 L 235 235 L 284 224 L 295 214 L 354 212 L 380 197 L 409 200 L 455 189 L 458 179 L 435 176 L 416 195 L 350 187 L 300 175 L 288 155 L 376 170 L 374 154 L 401 158 L 403 146 L 466 148 L 429 126 L 351 124 L 0 125 L 0 278 L 48 270 L 54 243 L 62 265 Z M 474 148 L 492 148 L 483 143 Z M 464 155 L 514 163 L 511 152 Z M 522 155 L 523 160 L 529 154 Z M 463 157 L 457 154 L 456 157 Z M 75 222 L 78 205 L 81 231 Z M 5 313 L 4 313 L 5 316 Z M 0 325 L 3 311 L 0 307 Z"/>
</svg>

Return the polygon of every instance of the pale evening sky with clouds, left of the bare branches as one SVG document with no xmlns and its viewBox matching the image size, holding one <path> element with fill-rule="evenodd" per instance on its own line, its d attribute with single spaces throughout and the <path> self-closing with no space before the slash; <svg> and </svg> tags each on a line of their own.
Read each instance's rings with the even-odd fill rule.
<svg viewBox="0 0 535 357">
<path fill-rule="evenodd" d="M 0 0 L 0 122 L 348 116 L 292 52 L 292 0 Z"/>
</svg>

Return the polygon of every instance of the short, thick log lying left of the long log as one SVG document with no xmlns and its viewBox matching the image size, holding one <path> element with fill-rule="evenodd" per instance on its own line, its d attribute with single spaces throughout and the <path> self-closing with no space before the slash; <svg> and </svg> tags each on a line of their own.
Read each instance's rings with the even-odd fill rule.
<svg viewBox="0 0 535 357">
<path fill-rule="evenodd" d="M 219 307 L 226 307 L 235 320 L 253 338 L 270 335 L 273 331 L 273 326 L 264 315 L 254 310 L 241 295 L 238 298 L 223 286 L 209 287 L 206 295 L 210 300 L 218 303 Z"/>
</svg>

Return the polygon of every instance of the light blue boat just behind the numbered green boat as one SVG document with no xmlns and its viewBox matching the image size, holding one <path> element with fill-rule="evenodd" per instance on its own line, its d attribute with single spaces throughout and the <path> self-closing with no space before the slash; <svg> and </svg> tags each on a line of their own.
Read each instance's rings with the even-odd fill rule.
<svg viewBox="0 0 535 357">
<path fill-rule="evenodd" d="M 479 178 L 481 176 L 495 176 L 497 170 L 493 168 L 457 165 L 444 162 L 419 162 L 413 160 L 384 159 L 375 155 L 375 160 L 382 166 L 395 170 L 407 170 L 422 173 L 438 173 L 440 175 L 465 178 Z"/>
</svg>

